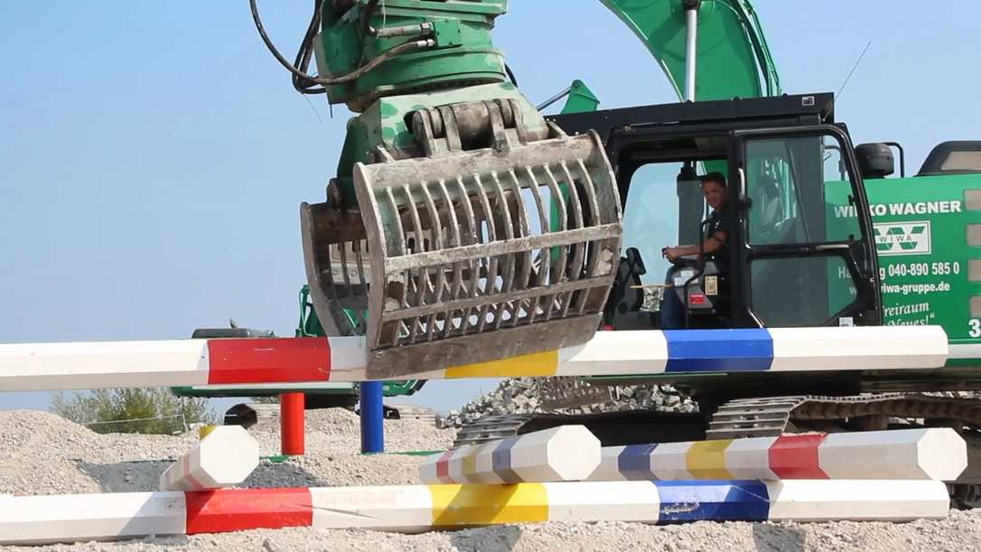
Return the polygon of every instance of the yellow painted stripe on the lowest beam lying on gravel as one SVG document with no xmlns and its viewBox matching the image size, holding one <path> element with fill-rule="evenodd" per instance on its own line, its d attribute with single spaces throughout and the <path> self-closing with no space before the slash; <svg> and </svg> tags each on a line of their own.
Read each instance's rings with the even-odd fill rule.
<svg viewBox="0 0 981 552">
<path fill-rule="evenodd" d="M 542 483 L 429 485 L 435 527 L 532 524 L 548 521 Z"/>
</svg>

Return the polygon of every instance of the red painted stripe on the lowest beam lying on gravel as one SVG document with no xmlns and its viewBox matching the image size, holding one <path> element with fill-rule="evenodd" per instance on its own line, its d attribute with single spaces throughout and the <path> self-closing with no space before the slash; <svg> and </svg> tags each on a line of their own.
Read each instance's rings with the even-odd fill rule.
<svg viewBox="0 0 981 552">
<path fill-rule="evenodd" d="M 308 488 L 220 489 L 184 497 L 187 534 L 313 525 Z"/>
</svg>

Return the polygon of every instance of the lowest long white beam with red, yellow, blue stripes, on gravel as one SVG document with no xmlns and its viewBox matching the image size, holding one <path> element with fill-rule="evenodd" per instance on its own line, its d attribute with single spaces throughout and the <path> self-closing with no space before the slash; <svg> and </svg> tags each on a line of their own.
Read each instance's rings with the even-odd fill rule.
<svg viewBox="0 0 981 552">
<path fill-rule="evenodd" d="M 541 522 L 939 519 L 930 480 L 585 481 L 0 497 L 0 544 L 257 528 L 421 531 Z"/>
</svg>

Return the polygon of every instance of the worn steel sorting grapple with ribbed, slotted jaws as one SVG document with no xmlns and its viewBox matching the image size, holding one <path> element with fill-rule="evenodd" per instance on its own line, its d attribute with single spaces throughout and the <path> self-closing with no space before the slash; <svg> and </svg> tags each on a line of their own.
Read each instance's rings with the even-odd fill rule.
<svg viewBox="0 0 981 552">
<path fill-rule="evenodd" d="M 366 335 L 370 378 L 576 345 L 600 324 L 621 235 L 602 143 L 536 135 L 507 102 L 415 112 L 427 157 L 357 164 L 360 218 L 304 205 L 318 315 Z"/>
</svg>

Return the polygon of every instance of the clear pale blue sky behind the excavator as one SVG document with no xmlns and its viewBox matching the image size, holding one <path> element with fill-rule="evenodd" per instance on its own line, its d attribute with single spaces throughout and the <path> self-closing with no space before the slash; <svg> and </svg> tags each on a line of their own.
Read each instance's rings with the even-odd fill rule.
<svg viewBox="0 0 981 552">
<path fill-rule="evenodd" d="M 309 4 L 260 2 L 288 57 Z M 936 143 L 981 137 L 981 4 L 754 5 L 789 92 L 837 91 L 872 41 L 837 107 L 855 142 L 898 140 L 915 172 Z M 512 0 L 494 39 L 533 102 L 573 78 L 603 107 L 673 101 L 599 2 Z M 0 342 L 181 338 L 230 317 L 292 333 L 298 205 L 323 197 L 348 113 L 292 90 L 245 0 L 0 2 L 0 68 Z M 0 393 L 0 409 L 48 400 Z"/>
</svg>

